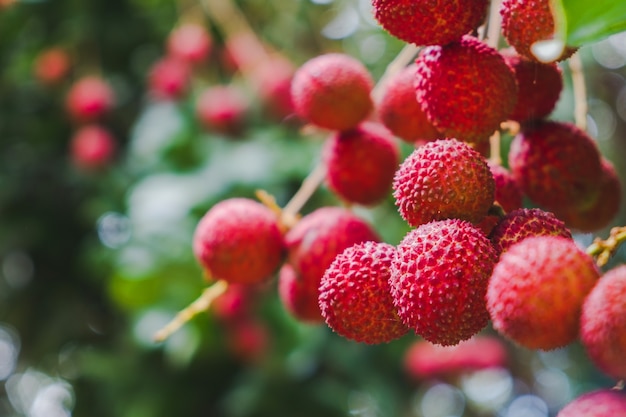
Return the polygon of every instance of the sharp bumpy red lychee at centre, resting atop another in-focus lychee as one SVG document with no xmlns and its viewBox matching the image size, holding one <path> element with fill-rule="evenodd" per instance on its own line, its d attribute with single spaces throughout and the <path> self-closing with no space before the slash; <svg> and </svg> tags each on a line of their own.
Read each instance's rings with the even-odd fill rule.
<svg viewBox="0 0 626 417">
<path fill-rule="evenodd" d="M 493 204 L 495 182 L 485 158 L 468 144 L 440 139 L 402 162 L 393 190 L 400 215 L 413 227 L 447 218 L 477 223 Z"/>
</svg>

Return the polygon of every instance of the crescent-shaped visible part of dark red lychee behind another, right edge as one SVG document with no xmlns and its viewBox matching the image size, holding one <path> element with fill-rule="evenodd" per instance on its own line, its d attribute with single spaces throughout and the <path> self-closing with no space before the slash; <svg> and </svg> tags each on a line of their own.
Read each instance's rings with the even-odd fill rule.
<svg viewBox="0 0 626 417">
<path fill-rule="evenodd" d="M 555 211 L 566 225 L 580 232 L 598 231 L 611 224 L 619 212 L 622 203 L 622 185 L 613 164 L 602 159 L 602 178 L 600 178 L 596 201 L 589 207 L 563 207 Z"/>
</svg>

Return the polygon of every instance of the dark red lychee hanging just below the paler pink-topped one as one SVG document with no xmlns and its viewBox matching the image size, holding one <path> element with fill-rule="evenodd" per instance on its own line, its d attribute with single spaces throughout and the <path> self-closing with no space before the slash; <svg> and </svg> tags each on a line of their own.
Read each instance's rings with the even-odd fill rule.
<svg viewBox="0 0 626 417">
<path fill-rule="evenodd" d="M 384 126 L 363 122 L 331 135 L 324 146 L 326 181 L 343 200 L 373 205 L 391 195 L 400 150 Z"/>
</svg>

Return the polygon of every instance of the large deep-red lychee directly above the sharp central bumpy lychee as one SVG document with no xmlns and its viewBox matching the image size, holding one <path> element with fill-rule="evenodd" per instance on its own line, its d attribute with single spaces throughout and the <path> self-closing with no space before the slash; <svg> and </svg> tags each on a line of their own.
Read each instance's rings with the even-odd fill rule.
<svg viewBox="0 0 626 417">
<path fill-rule="evenodd" d="M 515 106 L 513 70 L 498 51 L 476 38 L 428 47 L 415 63 L 417 101 L 448 137 L 485 141 Z"/>
</svg>

